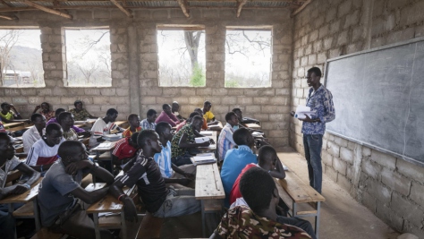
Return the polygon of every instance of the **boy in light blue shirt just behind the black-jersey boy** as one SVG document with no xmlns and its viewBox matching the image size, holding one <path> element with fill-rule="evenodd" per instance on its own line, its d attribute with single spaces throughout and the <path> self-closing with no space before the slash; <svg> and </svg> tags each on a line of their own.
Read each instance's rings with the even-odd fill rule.
<svg viewBox="0 0 424 239">
<path fill-rule="evenodd" d="M 162 144 L 162 151 L 155 154 L 154 159 L 159 166 L 160 173 L 165 179 L 165 183 L 176 183 L 182 185 L 191 183 L 191 180 L 195 179 L 194 175 L 196 175 L 196 166 L 192 164 L 176 166 L 171 160 L 171 141 L 173 140 L 171 124 L 159 122 L 159 124 L 156 125 L 155 131 L 159 135 L 159 141 Z"/>
</svg>

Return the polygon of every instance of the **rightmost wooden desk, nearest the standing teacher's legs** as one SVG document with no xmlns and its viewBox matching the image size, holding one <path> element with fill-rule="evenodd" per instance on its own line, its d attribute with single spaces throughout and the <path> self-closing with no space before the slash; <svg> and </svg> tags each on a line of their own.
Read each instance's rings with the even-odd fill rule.
<svg viewBox="0 0 424 239">
<path fill-rule="evenodd" d="M 315 191 L 310 184 L 303 183 L 293 171 L 290 171 L 290 169 L 289 171 L 285 171 L 285 178 L 276 179 L 276 183 L 280 197 L 284 201 L 287 201 L 288 196 L 290 198 L 289 200 L 293 201 L 291 207 L 293 217 L 315 218 L 315 235 L 317 235 L 318 238 L 321 201 L 326 201 L 326 199 Z M 310 206 L 310 203 L 316 203 L 315 207 Z M 302 204 L 303 209 L 298 209 L 299 204 Z M 287 205 L 290 208 L 290 204 Z"/>
</svg>

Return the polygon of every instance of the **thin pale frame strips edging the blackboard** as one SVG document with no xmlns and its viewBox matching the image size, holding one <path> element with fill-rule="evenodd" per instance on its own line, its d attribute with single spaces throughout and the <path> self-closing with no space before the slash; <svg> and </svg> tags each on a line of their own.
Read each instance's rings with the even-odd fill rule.
<svg viewBox="0 0 424 239">
<path fill-rule="evenodd" d="M 388 49 L 388 48 L 393 48 L 393 47 L 399 47 L 399 46 L 404 46 L 404 45 L 408 45 L 408 44 L 413 44 L 413 43 L 417 43 L 417 42 L 420 42 L 420 41 L 423 41 L 424 42 L 424 37 L 412 38 L 410 40 L 406 40 L 406 41 L 402 41 L 402 42 L 398 42 L 398 43 L 386 45 L 386 46 L 383 46 L 383 47 L 375 47 L 375 48 L 371 48 L 371 49 L 368 49 L 368 50 L 363 50 L 363 51 L 360 51 L 360 52 L 355 52 L 355 53 L 352 53 L 352 54 L 341 55 L 341 56 L 337 56 L 337 57 L 334 57 L 334 58 L 331 58 L 331 59 L 327 59 L 326 60 L 326 64 L 325 64 L 325 71 L 324 71 L 324 82 L 323 82 L 324 83 L 324 86 L 326 87 L 326 83 L 327 83 L 326 77 L 327 77 L 327 71 L 328 71 L 328 64 L 330 64 L 331 62 L 334 62 L 334 61 L 339 60 L 339 59 L 347 58 L 347 57 L 352 57 L 352 56 L 355 56 L 355 55 L 363 55 L 363 54 L 368 54 L 370 52 L 376 52 L 376 51 L 380 51 L 380 50 L 384 50 L 384 49 Z M 337 114 L 337 109 L 335 109 L 335 110 L 336 110 L 335 111 L 335 114 Z M 380 152 L 383 152 L 383 153 L 392 155 L 392 156 L 394 156 L 396 158 L 402 158 L 403 160 L 405 160 L 407 162 L 410 162 L 411 164 L 414 164 L 414 165 L 417 165 L 417 166 L 423 166 L 424 167 L 424 162 L 421 162 L 421 161 L 419 161 L 417 159 L 414 159 L 414 158 L 410 158 L 410 157 L 401 155 L 401 154 L 396 153 L 394 151 L 391 151 L 389 149 L 380 148 L 380 147 L 378 147 L 376 145 L 373 145 L 373 144 L 370 144 L 368 142 L 364 142 L 364 141 L 356 140 L 356 139 L 354 139 L 352 137 L 344 136 L 343 134 L 340 134 L 338 132 L 333 132 L 331 130 L 326 130 L 326 132 L 331 133 L 331 134 L 333 134 L 333 135 L 335 135 L 337 137 L 341 137 L 343 139 L 346 139 L 348 141 L 356 142 L 356 143 L 358 143 L 358 144 L 360 144 L 362 146 L 369 147 L 370 149 L 376 149 L 376 150 L 378 150 Z"/>
</svg>

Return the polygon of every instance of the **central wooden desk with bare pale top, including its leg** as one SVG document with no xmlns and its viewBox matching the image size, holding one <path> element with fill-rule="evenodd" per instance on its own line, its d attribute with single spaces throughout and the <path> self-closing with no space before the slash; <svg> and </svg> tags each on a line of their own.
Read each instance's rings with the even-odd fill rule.
<svg viewBox="0 0 424 239">
<path fill-rule="evenodd" d="M 220 213 L 225 199 L 224 186 L 215 164 L 196 166 L 195 197 L 201 201 L 203 237 L 206 237 L 205 214 Z"/>
</svg>

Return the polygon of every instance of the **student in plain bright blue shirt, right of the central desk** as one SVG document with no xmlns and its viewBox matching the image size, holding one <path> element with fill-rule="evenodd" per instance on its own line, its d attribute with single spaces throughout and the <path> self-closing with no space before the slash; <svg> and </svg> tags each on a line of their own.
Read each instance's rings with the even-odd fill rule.
<svg viewBox="0 0 424 239">
<path fill-rule="evenodd" d="M 247 129 L 238 129 L 233 133 L 233 140 L 238 145 L 238 149 L 230 149 L 226 152 L 224 164 L 221 167 L 221 180 L 225 191 L 225 207 L 230 206 L 230 192 L 233 184 L 242 169 L 248 164 L 258 163 L 256 155 L 251 148 L 255 141 Z"/>
</svg>

